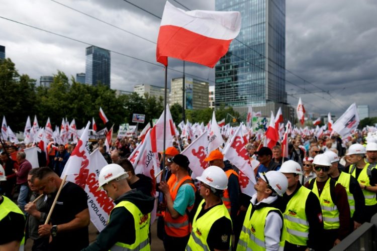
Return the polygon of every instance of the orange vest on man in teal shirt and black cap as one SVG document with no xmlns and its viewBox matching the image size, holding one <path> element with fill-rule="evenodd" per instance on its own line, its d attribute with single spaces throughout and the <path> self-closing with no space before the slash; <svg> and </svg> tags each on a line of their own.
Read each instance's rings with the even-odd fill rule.
<svg viewBox="0 0 377 251">
<path fill-rule="evenodd" d="M 175 200 L 175 197 L 177 196 L 178 190 L 180 186 L 185 182 L 186 180 L 191 180 L 191 177 L 189 175 L 184 176 L 181 180 L 177 181 L 176 176 L 173 174 L 170 176 L 167 184 L 170 188 L 170 196 L 171 199 Z M 196 191 L 196 188 L 193 183 L 186 183 L 193 187 L 194 192 Z M 191 208 L 193 207 L 190 206 Z M 190 208 L 188 207 L 188 208 Z M 186 212 L 183 215 L 179 215 L 177 218 L 173 218 L 169 212 L 169 210 L 166 208 L 165 210 L 165 216 L 164 216 L 164 222 L 165 222 L 165 232 L 169 236 L 173 237 L 184 237 L 190 234 L 191 232 L 191 223 L 189 221 L 189 216 L 186 214 Z"/>
</svg>

